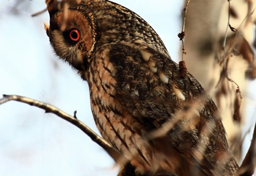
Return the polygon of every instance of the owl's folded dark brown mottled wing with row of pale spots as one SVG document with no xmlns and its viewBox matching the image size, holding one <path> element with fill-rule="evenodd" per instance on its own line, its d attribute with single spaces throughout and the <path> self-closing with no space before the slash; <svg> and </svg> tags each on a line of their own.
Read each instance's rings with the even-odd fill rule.
<svg viewBox="0 0 256 176">
<path fill-rule="evenodd" d="M 217 108 L 193 76 L 180 78 L 178 65 L 151 48 L 110 48 L 115 97 L 148 133 L 167 135 L 169 144 L 204 175 L 236 171 Z"/>
</svg>

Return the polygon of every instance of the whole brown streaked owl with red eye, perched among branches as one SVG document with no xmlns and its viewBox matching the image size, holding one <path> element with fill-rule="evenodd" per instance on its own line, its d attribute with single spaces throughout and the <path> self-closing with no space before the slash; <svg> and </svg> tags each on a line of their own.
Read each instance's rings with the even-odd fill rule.
<svg viewBox="0 0 256 176">
<path fill-rule="evenodd" d="M 129 161 L 118 175 L 237 171 L 213 100 L 192 75 L 180 74 L 146 21 L 106 0 L 46 4 L 55 53 L 88 82 L 97 128 Z"/>
</svg>

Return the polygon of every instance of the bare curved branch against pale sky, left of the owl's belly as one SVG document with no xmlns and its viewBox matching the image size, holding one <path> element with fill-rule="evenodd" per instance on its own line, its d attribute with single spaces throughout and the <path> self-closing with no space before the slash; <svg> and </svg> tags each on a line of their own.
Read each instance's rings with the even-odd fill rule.
<svg viewBox="0 0 256 176">
<path fill-rule="evenodd" d="M 113 148 L 107 141 L 102 139 L 99 135 L 97 135 L 92 129 L 90 129 L 86 124 L 82 121 L 78 120 L 77 118 L 67 114 L 66 112 L 61 111 L 60 109 L 49 105 L 47 103 L 43 103 L 34 99 L 30 99 L 27 97 L 17 96 L 17 95 L 3 95 L 4 98 L 0 99 L 0 105 L 4 104 L 9 101 L 18 101 L 21 103 L 28 104 L 30 106 L 35 106 L 41 109 L 44 109 L 46 113 L 53 113 L 59 116 L 62 119 L 67 120 L 68 122 L 72 123 L 79 129 L 81 129 L 90 139 L 101 146 L 104 150 L 108 152 L 108 154 L 117 161 L 120 157 L 123 157 L 122 154 Z"/>
</svg>

